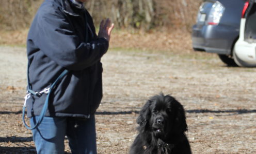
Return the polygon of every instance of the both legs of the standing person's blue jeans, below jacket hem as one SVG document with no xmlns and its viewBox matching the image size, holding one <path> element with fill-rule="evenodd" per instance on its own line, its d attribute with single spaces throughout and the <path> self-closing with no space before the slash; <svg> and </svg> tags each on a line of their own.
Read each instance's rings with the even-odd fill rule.
<svg viewBox="0 0 256 154">
<path fill-rule="evenodd" d="M 30 119 L 34 126 L 38 117 Z M 32 130 L 37 153 L 64 153 L 65 136 L 72 153 L 97 153 L 94 115 L 90 119 L 44 117 L 37 129 Z"/>
</svg>

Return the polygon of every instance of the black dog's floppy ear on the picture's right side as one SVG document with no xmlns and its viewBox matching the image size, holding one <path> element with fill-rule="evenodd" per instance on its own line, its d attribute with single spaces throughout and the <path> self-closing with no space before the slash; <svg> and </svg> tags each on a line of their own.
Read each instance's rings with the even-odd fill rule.
<svg viewBox="0 0 256 154">
<path fill-rule="evenodd" d="M 174 131 L 178 132 L 185 132 L 187 131 L 187 123 L 186 123 L 186 115 L 185 115 L 185 110 L 183 106 L 181 105 L 180 102 L 177 100 L 172 100 L 173 101 L 173 107 L 175 110 L 174 112 Z"/>
</svg>

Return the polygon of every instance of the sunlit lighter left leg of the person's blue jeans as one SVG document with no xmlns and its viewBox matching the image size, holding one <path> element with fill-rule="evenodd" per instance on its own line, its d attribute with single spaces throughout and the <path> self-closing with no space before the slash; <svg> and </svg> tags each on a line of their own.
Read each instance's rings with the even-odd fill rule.
<svg viewBox="0 0 256 154">
<path fill-rule="evenodd" d="M 37 121 L 38 116 L 31 118 L 30 125 Z M 64 153 L 66 128 L 67 118 L 44 117 L 38 128 L 32 130 L 37 153 Z"/>
</svg>

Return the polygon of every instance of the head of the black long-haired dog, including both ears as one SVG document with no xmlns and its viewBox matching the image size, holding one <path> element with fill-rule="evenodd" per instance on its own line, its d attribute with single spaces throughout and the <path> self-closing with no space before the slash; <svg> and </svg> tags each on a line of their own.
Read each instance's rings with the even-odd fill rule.
<svg viewBox="0 0 256 154">
<path fill-rule="evenodd" d="M 187 131 L 183 106 L 170 95 L 155 95 L 142 107 L 137 119 L 139 132 L 149 131 L 155 138 Z"/>
</svg>

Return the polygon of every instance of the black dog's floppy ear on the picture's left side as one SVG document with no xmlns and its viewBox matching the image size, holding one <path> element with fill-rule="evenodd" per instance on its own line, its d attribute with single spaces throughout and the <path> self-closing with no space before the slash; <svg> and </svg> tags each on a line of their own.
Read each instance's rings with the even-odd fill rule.
<svg viewBox="0 0 256 154">
<path fill-rule="evenodd" d="M 150 119 L 150 105 L 151 100 L 148 100 L 147 103 L 142 107 L 139 112 L 139 117 L 137 118 L 137 124 L 139 124 L 138 129 L 140 131 L 145 131 Z"/>
</svg>

